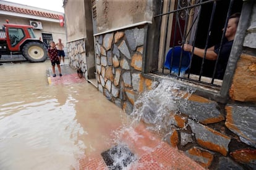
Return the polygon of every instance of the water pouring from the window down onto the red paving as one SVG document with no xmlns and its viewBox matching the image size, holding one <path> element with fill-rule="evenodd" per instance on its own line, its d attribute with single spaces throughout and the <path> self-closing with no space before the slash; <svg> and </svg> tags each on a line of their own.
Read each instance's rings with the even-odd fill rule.
<svg viewBox="0 0 256 170">
<path fill-rule="evenodd" d="M 120 153 L 122 154 L 108 155 L 109 159 L 112 160 L 109 168 L 140 169 L 147 167 L 147 164 L 155 164 L 158 168 L 168 169 L 163 164 L 150 158 L 150 155 L 155 153 L 158 147 L 161 147 L 162 140 L 175 124 L 174 115 L 180 114 L 179 107 L 187 101 L 192 92 L 194 92 L 192 89 L 181 86 L 181 84 L 162 80 L 160 83 L 155 83 L 151 91 L 140 95 L 134 104 L 134 110 L 129 116 L 130 124 L 114 131 L 112 141 L 117 146 L 121 145 L 121 147 L 124 145 L 123 142 L 127 144 L 132 152 L 135 151 L 135 158 L 132 157 L 134 160 L 128 165 L 121 164 L 122 161 L 127 159 L 127 156 L 128 158 L 131 156 L 130 151 L 116 148 L 115 150 L 121 150 Z M 145 124 L 141 124 L 141 122 Z M 160 136 L 163 139 L 153 136 L 148 129 L 161 134 Z"/>
</svg>

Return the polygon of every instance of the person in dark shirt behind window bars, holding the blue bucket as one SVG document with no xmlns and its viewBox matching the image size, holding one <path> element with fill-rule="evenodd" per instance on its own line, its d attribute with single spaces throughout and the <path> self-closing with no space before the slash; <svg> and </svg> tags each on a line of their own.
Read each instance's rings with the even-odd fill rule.
<svg viewBox="0 0 256 170">
<path fill-rule="evenodd" d="M 222 49 L 219 55 L 220 59 L 218 61 L 215 78 L 223 79 L 223 76 L 228 64 L 229 54 L 231 52 L 231 48 L 233 45 L 234 37 L 236 35 L 236 29 L 239 22 L 239 17 L 240 17 L 239 13 L 235 13 L 229 17 L 228 26 L 225 33 L 226 41 L 224 41 L 222 44 Z M 193 46 L 191 46 L 190 44 L 184 44 L 183 49 L 184 51 L 192 52 Z M 205 59 L 217 60 L 219 50 L 220 50 L 220 44 L 217 44 L 215 46 L 208 48 L 206 54 L 205 54 L 205 49 L 200 49 L 198 47 L 194 47 L 193 52 L 198 57 L 203 58 L 205 54 Z"/>
</svg>

